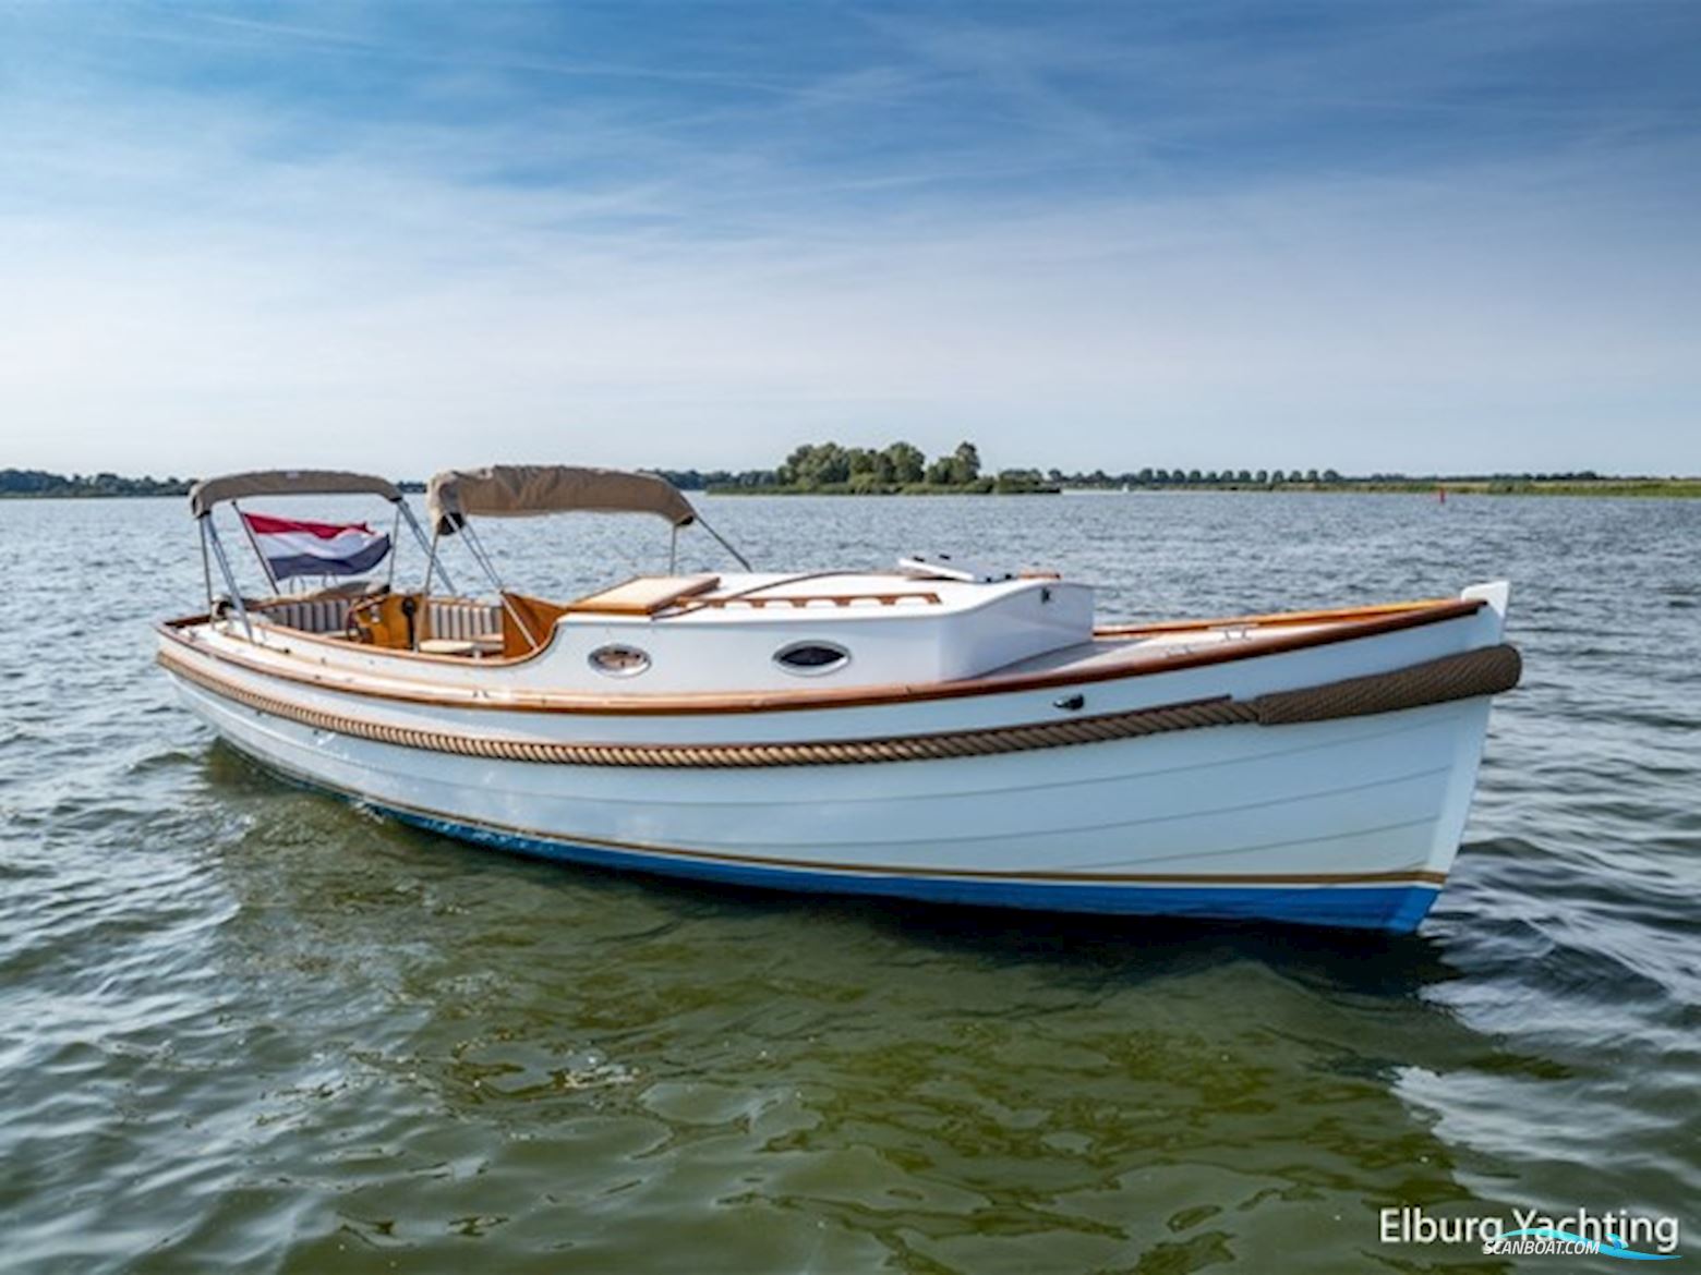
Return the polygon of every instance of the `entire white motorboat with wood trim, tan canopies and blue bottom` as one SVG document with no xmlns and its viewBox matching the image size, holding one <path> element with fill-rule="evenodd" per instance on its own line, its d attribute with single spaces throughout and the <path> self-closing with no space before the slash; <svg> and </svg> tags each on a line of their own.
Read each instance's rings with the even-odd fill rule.
<svg viewBox="0 0 1701 1275">
<path fill-rule="evenodd" d="M 272 585 L 243 598 L 214 510 L 321 491 L 390 500 L 391 536 L 405 522 L 424 549 L 420 586 L 396 585 L 395 546 L 369 527 L 236 508 Z M 158 626 L 160 663 L 282 774 L 607 867 L 1408 930 L 1453 864 L 1488 697 L 1519 672 L 1500 641 L 1505 585 L 1099 629 L 1084 585 L 946 558 L 883 573 L 740 558 L 544 598 L 502 585 L 478 518 L 641 512 L 677 547 L 701 517 L 658 478 L 543 466 L 439 474 L 429 505 L 427 536 L 378 478 L 199 484 L 209 607 Z M 452 541 L 485 597 L 444 575 Z M 282 585 L 379 563 L 388 585 Z"/>
</svg>

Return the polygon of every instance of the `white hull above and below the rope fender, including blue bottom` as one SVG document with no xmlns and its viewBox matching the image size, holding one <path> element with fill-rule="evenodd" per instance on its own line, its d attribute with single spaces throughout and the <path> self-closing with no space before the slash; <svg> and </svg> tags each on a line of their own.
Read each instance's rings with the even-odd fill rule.
<svg viewBox="0 0 1701 1275">
<path fill-rule="evenodd" d="M 1084 685 L 1094 714 L 1311 687 L 1492 646 L 1505 595 L 1441 624 Z M 257 699 L 507 741 L 731 745 L 1004 729 L 1058 688 L 665 717 L 367 697 L 208 626 L 168 644 L 185 702 L 301 782 L 468 840 L 801 891 L 1410 930 L 1453 864 L 1488 699 L 1289 726 L 874 765 L 572 765 L 325 729 Z M 247 648 L 245 663 L 228 656 Z M 270 672 L 269 661 L 282 661 Z"/>
</svg>

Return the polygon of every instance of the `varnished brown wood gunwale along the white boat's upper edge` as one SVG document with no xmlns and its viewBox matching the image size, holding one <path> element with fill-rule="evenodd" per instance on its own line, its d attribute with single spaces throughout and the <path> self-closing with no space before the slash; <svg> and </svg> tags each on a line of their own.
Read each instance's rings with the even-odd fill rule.
<svg viewBox="0 0 1701 1275">
<path fill-rule="evenodd" d="M 340 678 L 325 677 L 320 672 L 310 668 L 289 668 L 276 663 L 267 663 L 262 660 L 250 660 L 236 654 L 235 651 L 214 649 L 206 643 L 196 643 L 185 638 L 180 631 L 194 624 L 204 622 L 206 617 L 191 617 L 180 620 L 165 620 L 158 624 L 158 632 L 177 643 L 182 648 L 194 651 L 196 654 L 206 656 L 209 660 L 218 660 L 221 663 L 235 665 L 245 668 L 252 673 L 260 673 L 264 677 L 279 678 L 284 682 L 296 682 L 299 685 L 311 685 L 320 690 L 330 690 L 344 695 L 357 695 L 374 700 L 395 700 L 407 704 L 430 704 L 437 707 L 452 709 L 488 709 L 498 712 L 565 712 L 565 714 L 582 714 L 582 716 L 599 716 L 599 717 L 624 717 L 624 716 L 706 716 L 706 714 L 733 714 L 733 712 L 808 712 L 815 709 L 847 709 L 847 707 L 878 707 L 890 704 L 913 704 L 917 700 L 939 700 L 939 699 L 968 699 L 978 695 L 1009 695 L 1027 690 L 1053 690 L 1060 687 L 1082 687 L 1101 682 L 1119 682 L 1124 678 L 1150 677 L 1153 673 L 1170 673 L 1184 668 L 1199 668 L 1216 663 L 1232 663 L 1237 660 L 1254 660 L 1267 654 L 1283 654 L 1288 651 L 1301 651 L 1317 646 L 1332 646 L 1335 643 L 1356 641 L 1359 638 L 1374 638 L 1386 632 L 1398 632 L 1402 629 L 1414 629 L 1429 624 L 1441 624 L 1446 620 L 1463 619 L 1475 615 L 1483 607 L 1480 598 L 1449 598 L 1444 602 L 1431 604 L 1400 604 L 1397 607 L 1380 607 L 1380 609 L 1357 609 L 1356 612 L 1339 614 L 1340 619 L 1328 627 L 1311 629 L 1306 632 L 1294 634 L 1276 634 L 1267 639 L 1250 638 L 1247 641 L 1223 643 L 1211 649 L 1203 651 L 1180 651 L 1170 653 L 1167 656 L 1143 660 L 1143 661 L 1126 661 L 1101 666 L 1075 666 L 1067 670 L 1051 670 L 1044 673 L 1014 673 L 1014 675 L 987 675 L 978 678 L 964 678 L 961 682 L 934 682 L 934 683 L 891 683 L 879 687 L 850 687 L 844 690 L 782 690 L 782 692 L 697 692 L 697 694 L 658 694 L 658 695 L 583 695 L 573 692 L 538 692 L 538 690 L 507 690 L 492 692 L 490 688 L 480 687 L 447 687 L 439 683 L 415 682 L 410 687 L 395 685 L 396 678 L 391 678 L 391 685 L 378 687 L 371 683 L 362 683 L 359 678 L 362 673 L 359 670 L 344 670 L 347 675 Z M 1354 614 L 1364 614 L 1364 619 L 1351 619 Z M 1330 612 L 1330 615 L 1337 615 Z M 1250 624 L 1250 620 L 1249 620 Z M 276 626 L 274 626 L 276 627 Z M 1208 627 L 1225 627 L 1221 620 L 1203 622 L 1194 626 L 1199 629 Z M 1276 627 L 1276 626 L 1264 626 Z M 287 632 L 291 641 L 296 638 L 315 638 L 315 634 L 298 634 L 293 629 L 279 629 L 279 632 Z M 1129 631 L 1128 634 L 1116 636 L 1136 636 L 1140 631 Z M 461 666 L 468 666 L 468 661 L 461 656 L 422 656 L 413 651 L 384 651 L 386 658 L 417 658 L 417 660 L 437 660 L 451 661 Z M 536 654 L 526 656 L 527 660 L 538 658 Z M 476 668 L 492 670 L 521 663 L 519 660 L 480 660 Z M 321 666 L 323 668 L 323 666 Z"/>
</svg>

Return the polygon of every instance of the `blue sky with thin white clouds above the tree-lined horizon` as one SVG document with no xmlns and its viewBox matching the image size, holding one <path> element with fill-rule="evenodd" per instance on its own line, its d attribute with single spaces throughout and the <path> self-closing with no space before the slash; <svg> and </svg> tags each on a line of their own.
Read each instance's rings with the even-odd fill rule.
<svg viewBox="0 0 1701 1275">
<path fill-rule="evenodd" d="M 0 0 L 0 468 L 1701 473 L 1701 3 Z"/>
</svg>

